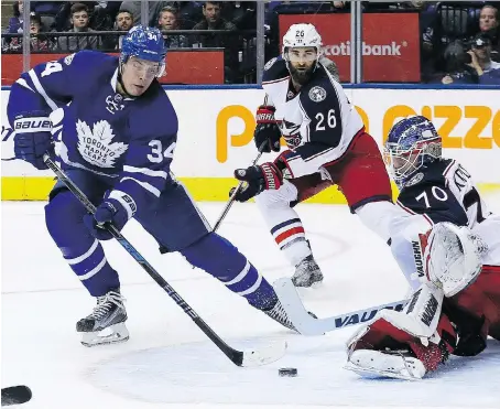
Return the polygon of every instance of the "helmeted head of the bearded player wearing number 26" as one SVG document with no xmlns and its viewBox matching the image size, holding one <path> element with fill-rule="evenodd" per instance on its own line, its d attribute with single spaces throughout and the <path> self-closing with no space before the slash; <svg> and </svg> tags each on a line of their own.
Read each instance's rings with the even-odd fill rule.
<svg viewBox="0 0 500 409">
<path fill-rule="evenodd" d="M 306 84 L 322 55 L 322 36 L 313 24 L 292 24 L 283 36 L 282 57 L 290 75 L 300 85 Z"/>
</svg>

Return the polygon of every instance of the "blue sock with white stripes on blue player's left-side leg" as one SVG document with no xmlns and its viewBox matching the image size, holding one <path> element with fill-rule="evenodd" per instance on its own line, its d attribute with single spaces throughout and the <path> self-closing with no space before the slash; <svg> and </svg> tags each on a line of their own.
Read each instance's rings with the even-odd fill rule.
<svg viewBox="0 0 500 409">
<path fill-rule="evenodd" d="M 106 260 L 100 243 L 85 227 L 84 206 L 64 191 L 45 206 L 45 223 L 63 257 L 90 295 L 106 294 L 120 287 L 118 273 Z"/>
</svg>

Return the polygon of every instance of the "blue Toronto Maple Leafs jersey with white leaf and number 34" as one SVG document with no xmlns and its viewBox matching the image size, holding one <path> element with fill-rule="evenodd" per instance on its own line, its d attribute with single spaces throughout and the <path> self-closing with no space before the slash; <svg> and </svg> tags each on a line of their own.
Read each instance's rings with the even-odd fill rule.
<svg viewBox="0 0 500 409">
<path fill-rule="evenodd" d="M 109 177 L 141 206 L 171 177 L 177 117 L 156 80 L 138 98 L 120 95 L 118 69 L 118 57 L 94 51 L 40 64 L 13 84 L 8 117 L 51 114 L 62 168 Z"/>
</svg>

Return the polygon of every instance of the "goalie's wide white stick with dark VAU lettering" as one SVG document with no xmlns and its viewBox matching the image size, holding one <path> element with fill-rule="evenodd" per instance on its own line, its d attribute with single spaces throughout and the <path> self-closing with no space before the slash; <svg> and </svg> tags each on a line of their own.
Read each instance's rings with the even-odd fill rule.
<svg viewBox="0 0 500 409">
<path fill-rule="evenodd" d="M 407 302 L 407 300 L 401 300 L 327 319 L 315 319 L 307 313 L 292 280 L 281 278 L 273 282 L 273 287 L 290 321 L 293 322 L 297 331 L 303 335 L 323 335 L 329 331 L 368 322 L 380 310 L 390 309 L 401 311 Z"/>
</svg>

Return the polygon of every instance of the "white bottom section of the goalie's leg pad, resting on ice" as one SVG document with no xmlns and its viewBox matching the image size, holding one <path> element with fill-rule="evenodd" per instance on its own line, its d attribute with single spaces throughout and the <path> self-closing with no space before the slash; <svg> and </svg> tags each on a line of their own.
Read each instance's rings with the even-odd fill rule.
<svg viewBox="0 0 500 409">
<path fill-rule="evenodd" d="M 346 369 L 369 378 L 420 380 L 427 373 L 422 360 L 409 349 L 358 349 L 350 354 Z"/>
</svg>

